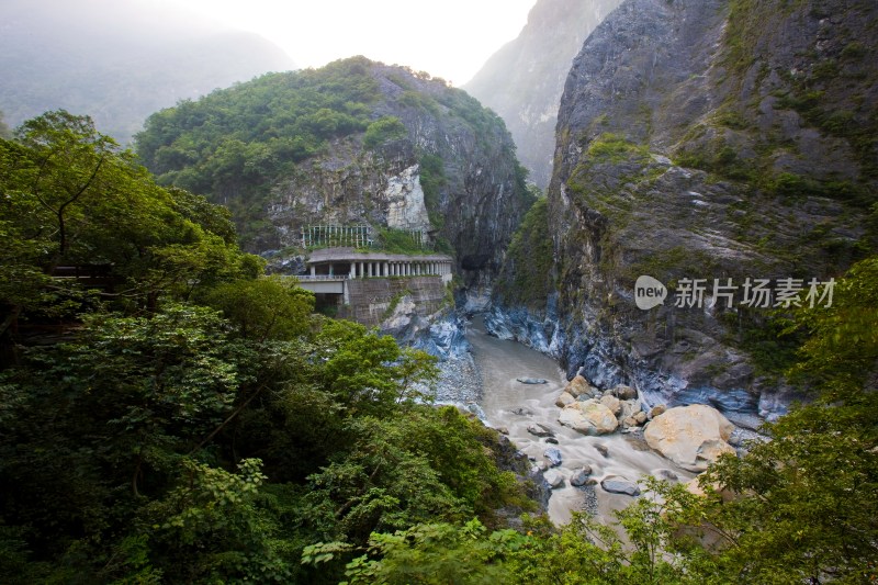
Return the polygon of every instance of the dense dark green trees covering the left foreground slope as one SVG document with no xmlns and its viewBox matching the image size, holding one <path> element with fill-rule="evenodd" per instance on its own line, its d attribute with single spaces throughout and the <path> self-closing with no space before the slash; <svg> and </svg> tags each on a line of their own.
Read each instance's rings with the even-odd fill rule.
<svg viewBox="0 0 878 585">
<path fill-rule="evenodd" d="M 428 405 L 432 358 L 259 278 L 90 120 L 0 155 L 5 583 L 335 582 L 306 545 L 531 506 L 496 432 Z"/>
</svg>

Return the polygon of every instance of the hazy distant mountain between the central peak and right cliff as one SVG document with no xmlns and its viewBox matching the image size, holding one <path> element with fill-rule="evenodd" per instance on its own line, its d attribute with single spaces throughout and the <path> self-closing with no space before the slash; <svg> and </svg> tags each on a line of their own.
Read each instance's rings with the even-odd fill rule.
<svg viewBox="0 0 878 585">
<path fill-rule="evenodd" d="M 518 38 L 495 53 L 463 86 L 497 112 L 518 146 L 530 180 L 552 176 L 558 104 L 573 57 L 621 0 L 539 0 Z"/>
</svg>

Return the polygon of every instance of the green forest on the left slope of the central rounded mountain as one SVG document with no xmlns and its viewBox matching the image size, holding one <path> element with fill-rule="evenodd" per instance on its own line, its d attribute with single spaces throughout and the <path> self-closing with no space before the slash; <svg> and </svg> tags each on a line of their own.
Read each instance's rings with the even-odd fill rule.
<svg viewBox="0 0 878 585">
<path fill-rule="evenodd" d="M 297 162 L 333 138 L 368 132 L 369 145 L 376 146 L 398 136 L 398 120 L 372 120 L 380 92 L 369 65 L 353 58 L 267 74 L 181 102 L 146 121 L 137 154 L 159 183 L 226 205 L 244 236 L 255 237 L 262 233 L 271 187 Z"/>
</svg>

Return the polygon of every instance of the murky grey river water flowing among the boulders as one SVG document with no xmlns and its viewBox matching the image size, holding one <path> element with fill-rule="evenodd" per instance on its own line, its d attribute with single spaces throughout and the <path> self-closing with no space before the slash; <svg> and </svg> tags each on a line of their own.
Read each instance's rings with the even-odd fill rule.
<svg viewBox="0 0 878 585">
<path fill-rule="evenodd" d="M 583 509 L 586 494 L 570 485 L 570 476 L 583 464 L 592 466 L 598 515 L 611 520 L 611 510 L 623 508 L 633 502 L 631 496 L 605 492 L 599 482 L 607 475 L 621 475 L 637 481 L 643 475 L 656 475 L 671 470 L 680 481 L 693 477 L 669 460 L 652 451 L 642 438 L 619 432 L 603 437 L 586 437 L 558 423 L 560 408 L 554 402 L 566 385 L 564 373 L 549 357 L 515 341 L 497 339 L 485 333 L 480 316 L 468 326 L 466 337 L 473 346 L 473 357 L 482 373 L 482 409 L 492 427 L 506 427 L 509 439 L 537 463 L 544 460 L 550 447 L 561 451 L 562 464 L 558 468 L 564 475 L 564 485 L 552 491 L 549 516 L 555 524 L 565 524 L 571 513 Z M 524 384 L 517 378 L 540 378 L 545 384 Z M 524 409 L 524 410 L 522 410 Z M 528 432 L 528 425 L 539 423 L 549 427 L 559 445 Z M 597 446 L 606 448 L 607 457 Z"/>
</svg>

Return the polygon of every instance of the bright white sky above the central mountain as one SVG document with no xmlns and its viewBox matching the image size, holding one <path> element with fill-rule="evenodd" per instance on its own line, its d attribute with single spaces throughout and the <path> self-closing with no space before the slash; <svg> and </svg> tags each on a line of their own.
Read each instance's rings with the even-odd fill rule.
<svg viewBox="0 0 878 585">
<path fill-rule="evenodd" d="M 299 67 L 363 55 L 462 86 L 537 0 L 149 0 L 259 33 Z"/>
</svg>

